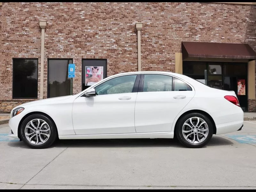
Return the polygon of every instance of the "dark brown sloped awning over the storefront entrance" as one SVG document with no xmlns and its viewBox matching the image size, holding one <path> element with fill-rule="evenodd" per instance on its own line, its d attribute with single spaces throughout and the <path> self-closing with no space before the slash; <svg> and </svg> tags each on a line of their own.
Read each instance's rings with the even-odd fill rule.
<svg viewBox="0 0 256 192">
<path fill-rule="evenodd" d="M 248 44 L 182 42 L 182 59 L 229 58 L 256 59 L 256 52 Z"/>
</svg>

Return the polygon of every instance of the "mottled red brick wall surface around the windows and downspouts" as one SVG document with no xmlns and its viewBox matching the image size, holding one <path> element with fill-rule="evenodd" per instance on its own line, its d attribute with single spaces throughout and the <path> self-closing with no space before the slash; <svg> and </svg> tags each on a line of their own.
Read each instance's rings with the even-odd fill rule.
<svg viewBox="0 0 256 192">
<path fill-rule="evenodd" d="M 136 22 L 143 23 L 142 70 L 174 71 L 181 41 L 248 43 L 256 50 L 255 12 L 255 5 L 218 3 L 3 3 L 0 100 L 12 100 L 12 58 L 38 58 L 39 95 L 39 20 L 47 21 L 46 98 L 48 58 L 73 58 L 78 93 L 82 59 L 107 59 L 108 76 L 138 70 Z"/>
</svg>

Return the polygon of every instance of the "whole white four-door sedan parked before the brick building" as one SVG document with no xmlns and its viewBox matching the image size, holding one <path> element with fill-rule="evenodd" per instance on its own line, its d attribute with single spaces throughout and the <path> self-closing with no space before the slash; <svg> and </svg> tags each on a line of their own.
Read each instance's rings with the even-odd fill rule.
<svg viewBox="0 0 256 192">
<path fill-rule="evenodd" d="M 171 72 L 129 72 L 86 90 L 36 100 L 11 111 L 10 136 L 31 148 L 59 139 L 174 138 L 200 148 L 213 134 L 239 131 L 244 112 L 234 91 Z"/>
</svg>

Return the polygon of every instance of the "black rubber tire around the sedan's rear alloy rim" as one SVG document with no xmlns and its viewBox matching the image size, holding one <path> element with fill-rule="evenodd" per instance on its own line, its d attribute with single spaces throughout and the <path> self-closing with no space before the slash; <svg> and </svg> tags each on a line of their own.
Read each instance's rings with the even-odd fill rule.
<svg viewBox="0 0 256 192">
<path fill-rule="evenodd" d="M 200 143 L 194 144 L 194 143 L 192 143 L 192 141 L 193 141 L 193 137 L 195 135 L 199 135 L 198 136 L 199 139 L 200 139 L 200 137 L 204 137 L 204 135 L 200 133 L 201 131 L 195 130 L 196 132 L 194 132 L 194 130 L 192 129 L 193 131 L 188 132 L 188 133 L 184 133 L 185 136 L 187 136 L 188 134 L 192 133 L 191 136 L 188 136 L 188 138 L 191 137 L 191 140 L 192 140 L 191 142 L 186 140 L 185 137 L 183 136 L 183 132 L 182 132 L 183 124 L 188 119 L 190 119 L 191 117 L 199 117 L 202 120 L 204 120 L 207 123 L 207 125 L 208 125 L 208 135 Z M 196 119 L 195 119 L 195 121 L 196 121 Z M 202 130 L 204 128 L 205 127 L 201 128 L 200 130 Z M 188 127 L 186 127 L 186 129 L 190 130 Z M 184 130 L 184 131 L 186 131 L 186 130 Z M 199 132 L 199 133 L 197 133 L 197 132 Z M 202 132 L 202 133 L 206 133 L 206 132 Z M 212 124 L 211 120 L 207 116 L 205 116 L 203 114 L 200 114 L 200 113 L 190 113 L 190 114 L 187 114 L 187 115 L 181 117 L 179 122 L 178 122 L 178 124 L 177 124 L 177 126 L 176 126 L 176 128 L 175 128 L 175 135 L 176 135 L 176 137 L 178 138 L 178 140 L 180 141 L 181 144 L 183 144 L 184 146 L 186 146 L 188 148 L 201 148 L 201 147 L 204 147 L 211 140 L 212 134 L 213 134 L 213 124 Z M 197 136 L 195 136 L 195 138 L 196 138 L 196 140 L 198 140 Z M 202 138 L 200 140 L 202 140 Z"/>
</svg>

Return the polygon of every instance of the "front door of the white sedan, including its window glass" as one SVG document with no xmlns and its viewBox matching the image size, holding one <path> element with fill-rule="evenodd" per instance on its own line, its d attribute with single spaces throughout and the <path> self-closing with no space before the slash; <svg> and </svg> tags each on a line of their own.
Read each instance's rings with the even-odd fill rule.
<svg viewBox="0 0 256 192">
<path fill-rule="evenodd" d="M 93 87 L 96 96 L 76 98 L 72 112 L 76 134 L 134 133 L 139 77 L 140 74 L 114 77 Z"/>
</svg>

